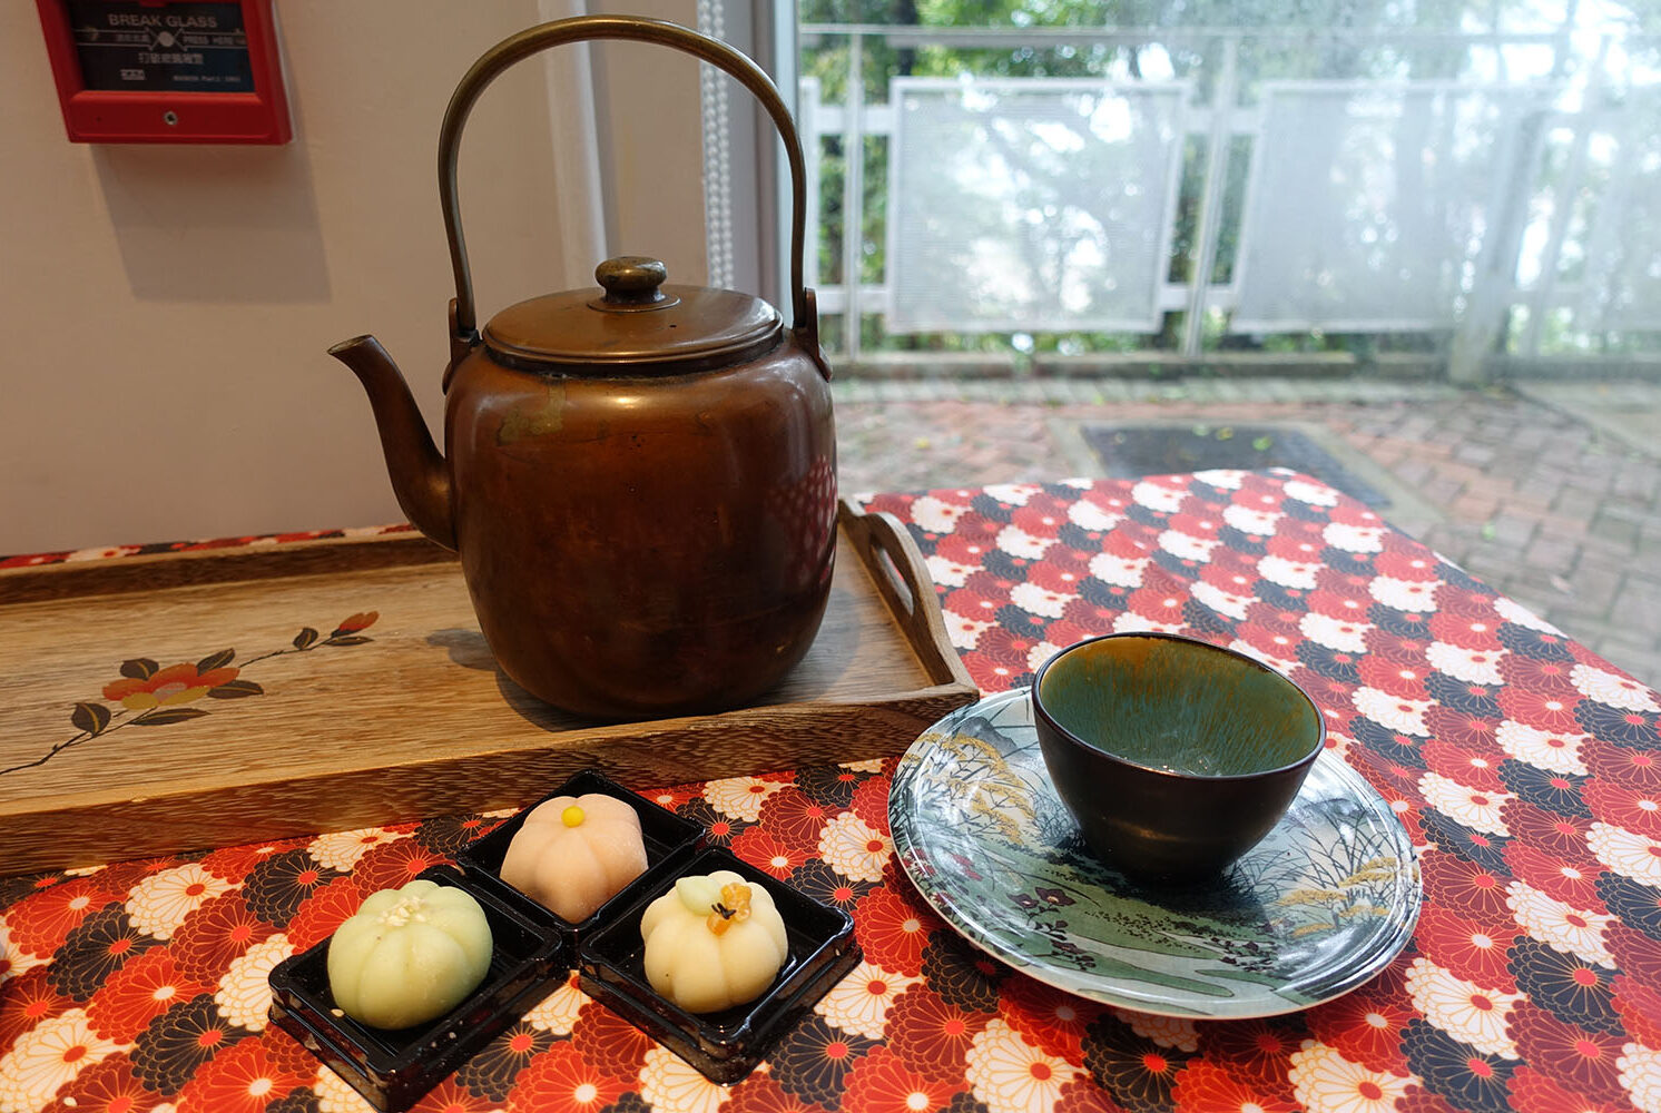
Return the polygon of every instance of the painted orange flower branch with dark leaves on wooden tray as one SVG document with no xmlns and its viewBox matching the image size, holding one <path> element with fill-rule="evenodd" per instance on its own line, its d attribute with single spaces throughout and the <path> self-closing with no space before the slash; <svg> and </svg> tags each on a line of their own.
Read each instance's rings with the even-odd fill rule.
<svg viewBox="0 0 1661 1113">
<path fill-rule="evenodd" d="M 43 766 L 65 749 L 80 746 L 93 738 L 110 734 L 125 726 L 171 726 L 188 723 L 209 714 L 208 709 L 189 706 L 203 698 L 208 699 L 246 699 L 262 696 L 266 689 L 257 683 L 243 678 L 243 669 L 257 661 L 274 656 L 291 656 L 294 653 L 312 653 L 322 648 L 355 646 L 374 638 L 362 631 L 380 618 L 379 611 L 359 611 L 350 615 L 329 631 L 321 635 L 312 626 L 302 628 L 282 650 L 261 653 L 234 664 L 236 650 L 219 650 L 209 653 L 194 664 L 181 661 L 166 664 L 138 656 L 121 661 L 120 679 L 103 686 L 103 698 L 116 704 L 81 701 L 70 711 L 70 724 L 80 733 L 48 748 L 45 754 L 33 761 L 25 761 L 8 769 L 0 769 L 0 776 Z"/>
</svg>

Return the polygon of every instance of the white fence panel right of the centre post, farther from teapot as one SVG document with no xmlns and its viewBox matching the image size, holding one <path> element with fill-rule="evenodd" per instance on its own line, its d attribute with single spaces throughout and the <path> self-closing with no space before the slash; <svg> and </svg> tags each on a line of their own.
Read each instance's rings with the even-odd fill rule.
<svg viewBox="0 0 1661 1113">
<path fill-rule="evenodd" d="M 1264 85 L 1234 332 L 1455 324 L 1540 86 Z"/>
</svg>

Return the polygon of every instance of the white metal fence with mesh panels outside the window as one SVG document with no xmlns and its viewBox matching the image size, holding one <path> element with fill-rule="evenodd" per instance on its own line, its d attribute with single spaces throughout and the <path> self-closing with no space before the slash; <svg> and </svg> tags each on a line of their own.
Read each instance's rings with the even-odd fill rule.
<svg viewBox="0 0 1661 1113">
<path fill-rule="evenodd" d="M 1400 33 L 1399 48 L 1477 53 L 1462 80 L 1242 81 L 1241 50 L 1312 32 L 1078 32 L 804 27 L 847 45 L 845 103 L 804 81 L 811 166 L 887 145 L 884 272 L 811 276 L 827 314 L 882 314 L 905 332 L 1143 332 L 1188 311 L 1236 334 L 1452 332 L 1490 344 L 1523 311 L 1546 324 L 1661 329 L 1661 85 L 1611 73 L 1611 38 Z M 1206 80 L 894 78 L 865 103 L 865 45 L 1189 47 Z M 1379 37 L 1369 43 L 1377 45 Z M 1249 148 L 1224 213 L 1229 151 Z M 1184 148 L 1201 153 L 1179 196 Z M 862 271 L 864 158 L 845 159 L 840 272 Z M 817 198 L 817 189 L 812 191 Z M 1169 279 L 1179 203 L 1189 279 Z M 1213 282 L 1232 244 L 1231 274 Z M 1226 324 L 1218 319 L 1226 314 Z M 859 359 L 859 329 L 844 329 Z M 1490 344 L 1492 346 L 1492 344 Z M 1453 346 L 1455 352 L 1458 344 Z M 1457 372 L 1457 369 L 1455 369 Z"/>
</svg>

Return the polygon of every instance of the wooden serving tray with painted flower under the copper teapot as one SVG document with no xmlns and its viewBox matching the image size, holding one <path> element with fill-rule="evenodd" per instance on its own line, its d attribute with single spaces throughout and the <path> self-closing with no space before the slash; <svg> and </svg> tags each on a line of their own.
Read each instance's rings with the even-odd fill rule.
<svg viewBox="0 0 1661 1113">
<path fill-rule="evenodd" d="M 0 874 L 518 807 L 586 766 L 646 787 L 889 756 L 977 698 L 915 543 L 845 502 L 812 650 L 724 714 L 538 701 L 417 533 L 5 570 L 0 631 Z"/>
</svg>

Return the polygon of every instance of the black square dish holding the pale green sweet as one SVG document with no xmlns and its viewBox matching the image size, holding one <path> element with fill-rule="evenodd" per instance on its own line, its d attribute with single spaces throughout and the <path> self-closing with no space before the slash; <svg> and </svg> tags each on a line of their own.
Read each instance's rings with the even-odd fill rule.
<svg viewBox="0 0 1661 1113">
<path fill-rule="evenodd" d="M 422 879 L 455 885 L 490 922 L 490 970 L 480 987 L 430 1025 L 382 1032 L 344 1015 L 329 993 L 329 940 L 271 972 L 271 1018 L 385 1113 L 415 1105 L 505 1027 L 532 1008 L 571 967 L 565 939 L 533 917 L 468 884 L 448 865 Z"/>
</svg>

